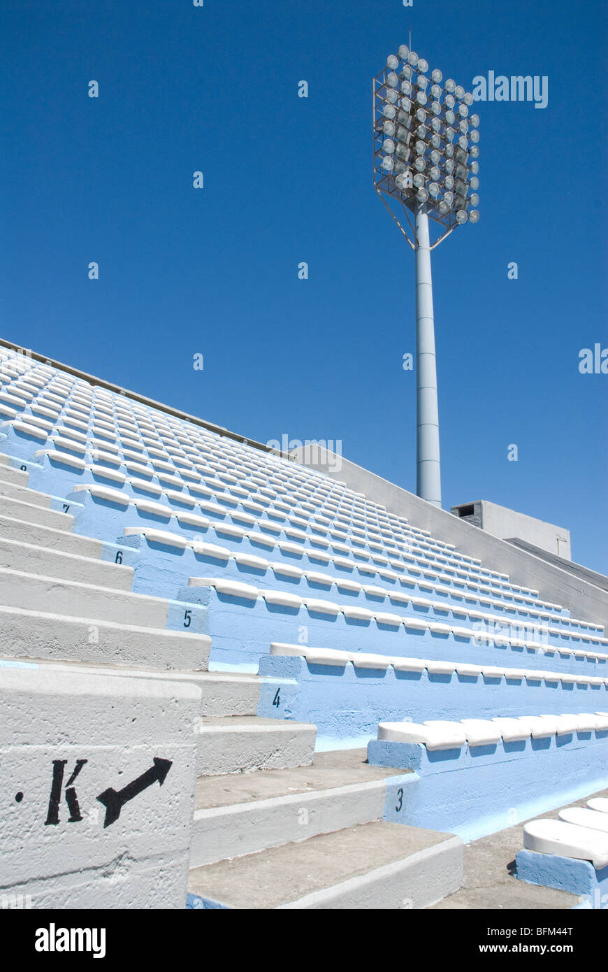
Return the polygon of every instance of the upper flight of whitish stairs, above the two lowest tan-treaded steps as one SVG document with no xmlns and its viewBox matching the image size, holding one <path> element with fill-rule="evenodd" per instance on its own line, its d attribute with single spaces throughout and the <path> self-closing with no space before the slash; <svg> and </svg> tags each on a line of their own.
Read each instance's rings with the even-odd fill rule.
<svg viewBox="0 0 608 972">
<path fill-rule="evenodd" d="M 258 718 L 258 679 L 208 672 L 211 639 L 168 630 L 168 603 L 132 593 L 133 569 L 102 561 L 101 541 L 71 534 L 73 517 L 29 491 L 27 473 L 6 462 L 0 457 L 0 654 L 200 684 L 199 774 L 312 761 L 315 726 Z M 9 496 L 16 489 L 18 500 Z"/>
</svg>

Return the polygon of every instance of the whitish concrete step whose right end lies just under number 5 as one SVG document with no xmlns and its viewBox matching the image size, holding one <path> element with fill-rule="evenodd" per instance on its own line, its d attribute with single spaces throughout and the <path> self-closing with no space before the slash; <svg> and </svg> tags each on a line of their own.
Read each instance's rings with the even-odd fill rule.
<svg viewBox="0 0 608 972">
<path fill-rule="evenodd" d="M 205 670 L 210 651 L 211 639 L 207 635 L 0 607 L 0 655 L 4 657 L 44 664 L 54 660 L 84 665 L 92 663 L 106 674 L 107 668 L 117 666 L 116 675 L 124 675 L 124 666 L 137 665 L 141 666 L 142 674 L 151 676 L 153 669 L 160 669 L 163 671 L 159 674 L 167 677 L 165 669 Z M 144 672 L 147 667 L 151 671 Z M 222 688 L 220 685 L 216 689 L 220 698 Z M 247 707 L 251 707 L 252 694 L 250 688 L 246 700 L 240 701 L 240 708 L 235 702 L 234 714 L 241 714 L 243 709 L 250 711 Z M 226 696 L 223 709 L 220 704 L 213 707 L 215 696 L 210 695 L 210 714 L 228 714 L 230 695 L 227 690 L 223 692 Z M 237 688 L 232 695 L 238 698 Z"/>
</svg>

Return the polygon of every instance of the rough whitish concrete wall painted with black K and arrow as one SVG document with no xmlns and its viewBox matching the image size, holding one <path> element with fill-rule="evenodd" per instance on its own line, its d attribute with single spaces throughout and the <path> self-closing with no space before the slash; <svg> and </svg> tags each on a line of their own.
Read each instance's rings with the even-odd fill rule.
<svg viewBox="0 0 608 972">
<path fill-rule="evenodd" d="M 186 906 L 199 700 L 186 682 L 0 662 L 0 900 Z"/>
</svg>

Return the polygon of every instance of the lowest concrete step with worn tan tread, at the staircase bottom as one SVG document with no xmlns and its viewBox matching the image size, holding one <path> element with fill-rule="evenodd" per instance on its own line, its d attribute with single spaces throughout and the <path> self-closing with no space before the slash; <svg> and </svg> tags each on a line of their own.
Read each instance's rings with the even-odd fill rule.
<svg viewBox="0 0 608 972">
<path fill-rule="evenodd" d="M 194 868 L 188 889 L 208 907 L 400 910 L 427 907 L 461 881 L 459 838 L 373 822 Z"/>
</svg>

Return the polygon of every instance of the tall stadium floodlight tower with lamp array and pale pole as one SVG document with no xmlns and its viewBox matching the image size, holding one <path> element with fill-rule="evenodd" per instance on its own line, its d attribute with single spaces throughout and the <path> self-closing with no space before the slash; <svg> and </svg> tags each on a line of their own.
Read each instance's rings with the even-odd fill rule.
<svg viewBox="0 0 608 972">
<path fill-rule="evenodd" d="M 441 506 L 430 251 L 456 226 L 479 220 L 479 117 L 469 115 L 470 92 L 451 78 L 442 84 L 436 68 L 427 73 L 428 62 L 403 44 L 374 78 L 374 186 L 416 254 L 416 492 Z M 443 230 L 432 244 L 429 216 Z"/>
</svg>

